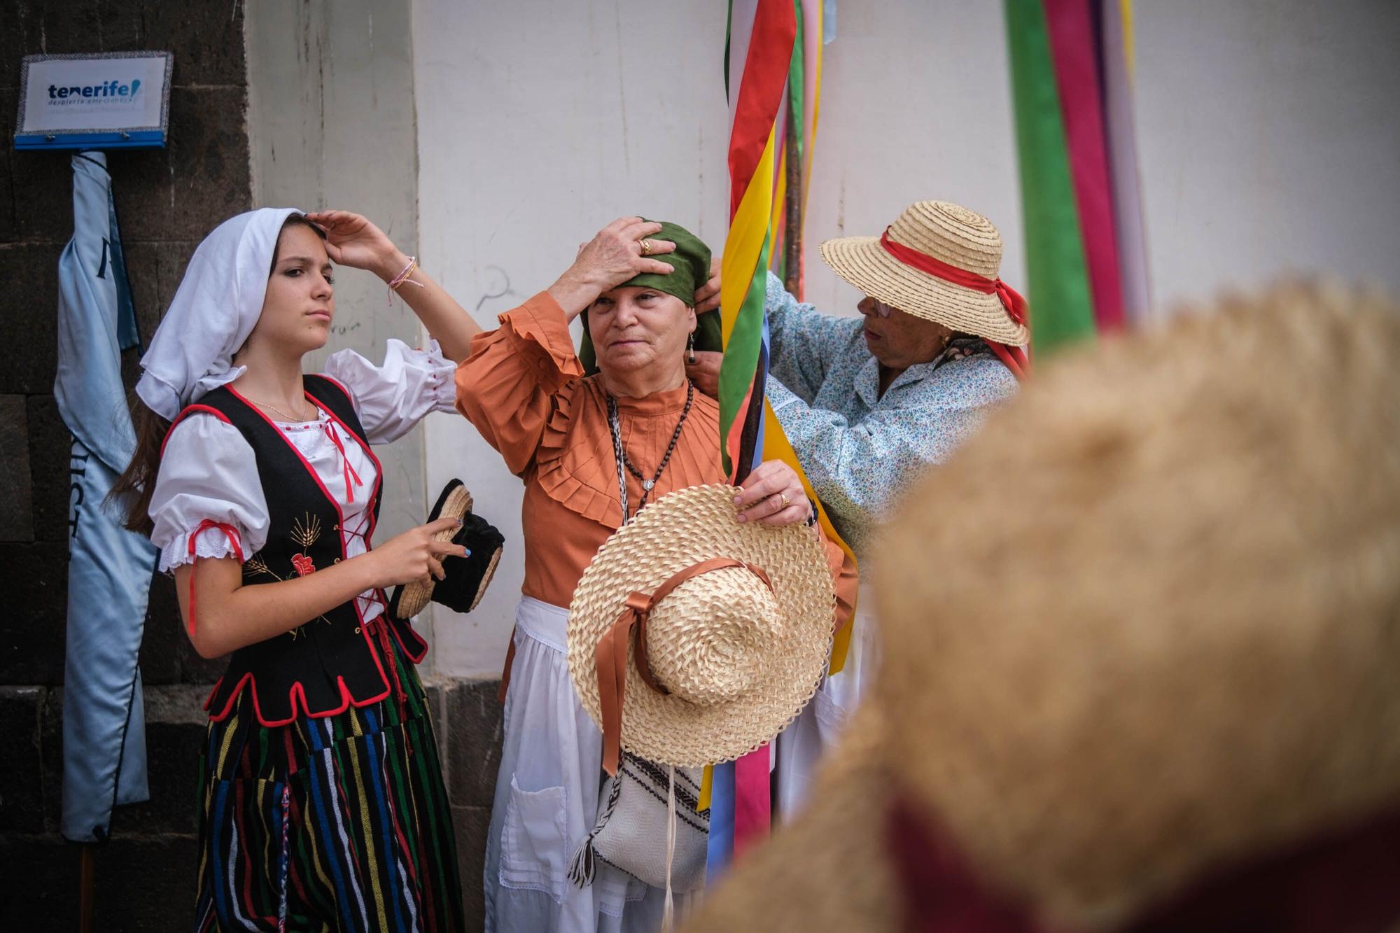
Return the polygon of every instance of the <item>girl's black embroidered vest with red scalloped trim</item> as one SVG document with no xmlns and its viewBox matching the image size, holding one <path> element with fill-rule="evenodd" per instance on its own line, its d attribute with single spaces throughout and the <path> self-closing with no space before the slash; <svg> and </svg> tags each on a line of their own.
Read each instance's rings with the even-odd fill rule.
<svg viewBox="0 0 1400 933">
<path fill-rule="evenodd" d="M 307 396 L 339 422 L 342 434 L 361 444 L 375 465 L 378 478 L 370 492 L 372 511 L 364 535 L 368 548 L 379 517 L 384 475 L 379 461 L 370 452 L 344 389 L 319 375 L 305 375 L 302 381 Z M 343 560 L 340 509 L 287 436 L 228 387 L 209 392 L 193 408 L 213 409 L 237 427 L 258 458 L 270 527 L 262 551 L 244 555 L 244 583 L 290 580 Z M 389 625 L 405 656 L 414 663 L 427 653 L 427 643 L 413 628 L 389 619 L 388 612 L 370 625 Z M 381 654 L 361 622 L 358 600 L 350 600 L 290 632 L 234 651 L 204 709 L 210 719 L 224 719 L 245 688 L 253 691 L 263 726 L 283 726 L 298 714 L 328 716 L 351 705 L 367 706 L 385 699 L 393 682 L 384 667 L 389 660 L 381 661 Z"/>
</svg>

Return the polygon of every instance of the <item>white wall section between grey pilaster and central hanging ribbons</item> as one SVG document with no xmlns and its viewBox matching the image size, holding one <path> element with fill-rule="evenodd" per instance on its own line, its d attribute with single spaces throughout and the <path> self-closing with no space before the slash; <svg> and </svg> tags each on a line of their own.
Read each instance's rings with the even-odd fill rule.
<svg viewBox="0 0 1400 933">
<path fill-rule="evenodd" d="M 413 7 L 423 265 L 483 325 L 623 214 L 727 230 L 724 4 L 421 0 Z M 465 419 L 428 426 L 428 488 L 461 476 L 507 555 L 437 665 L 498 674 L 522 577 L 521 482 Z"/>
</svg>

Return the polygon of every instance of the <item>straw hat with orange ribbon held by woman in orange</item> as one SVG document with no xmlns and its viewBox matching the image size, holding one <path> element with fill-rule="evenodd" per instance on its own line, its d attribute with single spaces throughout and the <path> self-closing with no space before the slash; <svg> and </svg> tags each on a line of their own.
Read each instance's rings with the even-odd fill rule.
<svg viewBox="0 0 1400 933">
<path fill-rule="evenodd" d="M 633 594 L 651 595 L 687 567 L 700 573 L 650 612 L 651 689 L 629 637 L 622 748 L 697 768 L 769 742 L 816 692 L 832 647 L 836 590 L 826 552 L 804 525 L 739 523 L 731 486 L 693 486 L 657 500 L 603 544 L 568 607 L 568 671 L 605 728 L 598 646 Z M 771 588 L 760 577 L 767 577 Z"/>
</svg>

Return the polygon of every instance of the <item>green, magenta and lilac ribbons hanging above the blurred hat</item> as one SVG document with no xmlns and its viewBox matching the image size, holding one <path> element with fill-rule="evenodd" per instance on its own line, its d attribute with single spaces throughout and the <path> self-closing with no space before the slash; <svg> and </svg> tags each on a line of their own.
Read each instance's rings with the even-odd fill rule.
<svg viewBox="0 0 1400 933">
<path fill-rule="evenodd" d="M 1005 0 L 1037 350 L 1147 314 L 1128 0 Z"/>
</svg>

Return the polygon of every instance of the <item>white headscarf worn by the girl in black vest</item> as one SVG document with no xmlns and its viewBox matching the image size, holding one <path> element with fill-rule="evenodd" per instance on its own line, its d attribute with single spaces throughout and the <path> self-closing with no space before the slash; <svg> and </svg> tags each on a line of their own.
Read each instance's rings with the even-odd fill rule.
<svg viewBox="0 0 1400 933">
<path fill-rule="evenodd" d="M 232 382 L 234 353 L 262 314 L 267 270 L 294 207 L 260 207 L 230 217 L 199 244 L 175 300 L 141 357 L 136 394 L 168 422 L 206 392 Z"/>
</svg>

